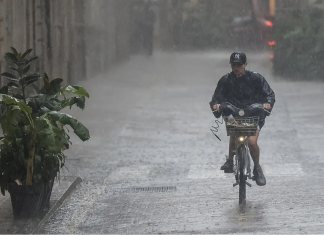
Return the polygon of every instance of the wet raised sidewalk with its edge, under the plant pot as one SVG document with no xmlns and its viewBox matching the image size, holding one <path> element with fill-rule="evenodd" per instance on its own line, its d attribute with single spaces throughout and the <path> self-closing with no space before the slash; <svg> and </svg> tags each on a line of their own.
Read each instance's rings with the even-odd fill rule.
<svg viewBox="0 0 324 235">
<path fill-rule="evenodd" d="M 62 205 L 63 201 L 81 182 L 79 177 L 64 177 L 60 182 L 55 182 L 50 200 L 50 209 L 45 211 L 40 218 L 29 220 L 14 220 L 9 193 L 0 196 L 0 234 L 37 233 L 42 225 Z"/>
</svg>

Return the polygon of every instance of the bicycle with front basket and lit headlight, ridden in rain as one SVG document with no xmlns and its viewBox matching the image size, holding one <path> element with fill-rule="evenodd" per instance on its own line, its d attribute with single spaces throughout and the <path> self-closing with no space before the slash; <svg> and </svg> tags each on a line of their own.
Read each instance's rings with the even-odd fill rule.
<svg viewBox="0 0 324 235">
<path fill-rule="evenodd" d="M 262 104 L 252 104 L 246 109 L 239 109 L 227 102 L 221 104 L 219 111 L 213 112 L 218 112 L 219 117 L 220 115 L 223 116 L 227 136 L 234 136 L 235 138 L 233 172 L 236 182 L 233 187 L 239 186 L 239 205 L 241 205 L 246 202 L 246 185 L 252 187 L 247 180 L 254 180 L 254 177 L 251 176 L 248 138 L 256 135 L 260 118 L 265 118 L 265 112 L 268 114 L 270 112 L 265 110 Z M 215 133 L 214 135 L 219 138 Z"/>
</svg>

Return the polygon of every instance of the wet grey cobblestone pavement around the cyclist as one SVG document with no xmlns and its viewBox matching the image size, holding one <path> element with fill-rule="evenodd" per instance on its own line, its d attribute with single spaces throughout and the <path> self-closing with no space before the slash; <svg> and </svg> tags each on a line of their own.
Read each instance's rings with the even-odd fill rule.
<svg viewBox="0 0 324 235">
<path fill-rule="evenodd" d="M 274 79 L 267 53 L 247 53 L 277 102 L 259 141 L 267 185 L 253 182 L 239 207 L 219 170 L 225 128 L 221 142 L 209 130 L 229 54 L 136 57 L 83 84 L 91 97 L 71 114 L 92 137 L 73 140 L 63 172 L 83 182 L 41 233 L 323 233 L 324 85 Z"/>
</svg>

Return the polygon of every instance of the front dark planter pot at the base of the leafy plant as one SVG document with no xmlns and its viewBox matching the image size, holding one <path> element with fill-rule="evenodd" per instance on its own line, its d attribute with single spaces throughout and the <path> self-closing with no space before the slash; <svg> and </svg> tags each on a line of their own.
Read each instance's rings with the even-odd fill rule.
<svg viewBox="0 0 324 235">
<path fill-rule="evenodd" d="M 29 219 L 39 215 L 44 195 L 44 185 L 9 184 L 8 191 L 14 219 Z"/>
</svg>

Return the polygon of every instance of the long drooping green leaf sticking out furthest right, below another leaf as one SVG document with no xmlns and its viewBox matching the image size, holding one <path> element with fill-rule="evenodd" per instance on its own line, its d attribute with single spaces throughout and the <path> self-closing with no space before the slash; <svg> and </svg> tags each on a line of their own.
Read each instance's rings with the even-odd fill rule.
<svg viewBox="0 0 324 235">
<path fill-rule="evenodd" d="M 89 130 L 78 120 L 74 119 L 72 116 L 59 113 L 59 112 L 49 112 L 46 114 L 51 120 L 62 123 L 63 125 L 69 125 L 72 127 L 74 133 L 82 140 L 86 141 L 90 138 Z"/>
</svg>

